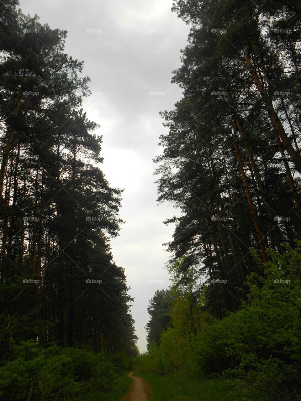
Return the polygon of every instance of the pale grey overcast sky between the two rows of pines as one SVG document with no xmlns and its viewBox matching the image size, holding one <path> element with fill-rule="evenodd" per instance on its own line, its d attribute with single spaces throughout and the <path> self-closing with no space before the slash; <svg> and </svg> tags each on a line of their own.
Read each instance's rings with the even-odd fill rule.
<svg viewBox="0 0 301 401">
<path fill-rule="evenodd" d="M 67 30 L 66 53 L 85 61 L 92 96 L 83 106 L 101 126 L 102 170 L 112 186 L 124 188 L 120 217 L 126 223 L 112 240 L 112 253 L 135 298 L 132 315 L 141 352 L 148 302 L 157 288 L 169 285 L 169 254 L 162 244 L 171 239 L 173 227 L 163 220 L 178 213 L 171 205 L 157 205 L 152 162 L 166 130 L 159 111 L 173 109 L 181 98 L 181 89 L 170 81 L 189 28 L 171 6 L 172 0 L 20 0 L 25 14 Z"/>
</svg>

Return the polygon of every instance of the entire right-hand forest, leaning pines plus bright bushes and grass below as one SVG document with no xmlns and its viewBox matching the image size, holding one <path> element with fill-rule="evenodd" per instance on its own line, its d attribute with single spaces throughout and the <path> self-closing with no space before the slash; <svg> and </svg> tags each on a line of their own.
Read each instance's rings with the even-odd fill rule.
<svg viewBox="0 0 301 401">
<path fill-rule="evenodd" d="M 300 2 L 173 12 L 190 26 L 183 97 L 155 162 L 158 201 L 181 215 L 137 369 L 156 400 L 299 400 Z"/>
</svg>

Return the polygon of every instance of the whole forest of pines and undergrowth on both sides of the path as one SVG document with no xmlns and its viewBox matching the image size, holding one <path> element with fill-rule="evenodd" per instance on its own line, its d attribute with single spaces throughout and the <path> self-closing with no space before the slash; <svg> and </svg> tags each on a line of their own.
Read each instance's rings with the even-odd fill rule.
<svg viewBox="0 0 301 401">
<path fill-rule="evenodd" d="M 154 174 L 177 214 L 143 353 L 83 61 L 18 6 L 0 1 L 0 400 L 301 400 L 300 2 L 172 5 L 190 31 Z"/>
</svg>

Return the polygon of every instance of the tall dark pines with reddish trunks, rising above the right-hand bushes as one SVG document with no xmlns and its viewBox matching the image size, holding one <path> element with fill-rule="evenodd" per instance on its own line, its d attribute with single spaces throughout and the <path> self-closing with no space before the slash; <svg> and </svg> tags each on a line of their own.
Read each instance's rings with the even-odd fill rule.
<svg viewBox="0 0 301 401">
<path fill-rule="evenodd" d="M 217 318 L 246 300 L 252 246 L 282 251 L 301 235 L 299 3 L 179 0 L 191 30 L 163 117 L 159 201 L 179 207 L 169 251 L 208 279 Z M 222 281 L 223 285 L 220 285 Z"/>
</svg>

